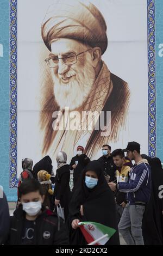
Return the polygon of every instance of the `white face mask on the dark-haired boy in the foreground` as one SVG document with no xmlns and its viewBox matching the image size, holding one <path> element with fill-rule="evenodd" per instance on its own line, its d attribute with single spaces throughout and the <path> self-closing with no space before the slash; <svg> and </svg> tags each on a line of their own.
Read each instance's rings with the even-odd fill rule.
<svg viewBox="0 0 163 256">
<path fill-rule="evenodd" d="M 29 202 L 29 203 L 22 203 L 23 210 L 29 215 L 29 216 L 35 216 L 39 213 L 39 211 L 42 208 L 41 201 L 37 202 Z"/>
</svg>

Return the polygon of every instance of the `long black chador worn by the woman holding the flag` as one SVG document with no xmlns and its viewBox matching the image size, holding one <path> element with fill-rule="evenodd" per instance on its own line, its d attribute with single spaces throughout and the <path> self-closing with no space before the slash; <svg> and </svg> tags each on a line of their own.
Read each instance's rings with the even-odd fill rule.
<svg viewBox="0 0 163 256">
<path fill-rule="evenodd" d="M 85 174 L 88 170 L 93 170 L 98 176 L 97 185 L 92 189 L 87 188 L 85 184 Z M 83 205 L 84 216 L 80 215 L 80 205 Z M 107 244 L 119 244 L 115 200 L 105 180 L 99 161 L 90 162 L 84 169 L 80 186 L 71 199 L 69 212 L 70 222 L 75 218 L 79 218 L 81 221 L 98 222 L 116 229 L 116 233 Z M 79 229 L 77 230 L 79 232 Z"/>
</svg>

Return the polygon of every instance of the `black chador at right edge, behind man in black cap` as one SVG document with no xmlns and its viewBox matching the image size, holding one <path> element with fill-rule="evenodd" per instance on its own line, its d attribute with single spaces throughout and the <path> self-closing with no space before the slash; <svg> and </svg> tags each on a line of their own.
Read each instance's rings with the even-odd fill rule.
<svg viewBox="0 0 163 256">
<path fill-rule="evenodd" d="M 163 245 L 163 198 L 159 198 L 163 185 L 163 169 L 157 157 L 151 159 L 151 198 L 143 216 L 142 231 L 145 245 Z"/>
</svg>

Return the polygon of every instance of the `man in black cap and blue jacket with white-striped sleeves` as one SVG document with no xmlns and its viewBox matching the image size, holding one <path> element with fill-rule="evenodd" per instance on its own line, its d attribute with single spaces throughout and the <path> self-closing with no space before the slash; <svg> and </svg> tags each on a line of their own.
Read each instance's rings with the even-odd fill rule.
<svg viewBox="0 0 163 256">
<path fill-rule="evenodd" d="M 131 168 L 128 183 L 109 183 L 112 191 L 127 193 L 128 204 L 124 208 L 118 228 L 127 245 L 144 245 L 142 218 L 151 195 L 151 168 L 148 161 L 140 155 L 139 143 L 129 142 L 123 151 L 127 152 L 127 157 L 134 160 L 135 164 Z"/>
</svg>

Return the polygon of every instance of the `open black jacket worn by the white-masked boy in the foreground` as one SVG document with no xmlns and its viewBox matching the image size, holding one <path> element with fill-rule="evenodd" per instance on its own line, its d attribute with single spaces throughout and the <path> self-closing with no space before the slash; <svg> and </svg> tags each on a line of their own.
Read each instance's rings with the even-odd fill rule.
<svg viewBox="0 0 163 256">
<path fill-rule="evenodd" d="M 6 245 L 21 245 L 26 212 L 20 206 L 10 217 L 10 232 Z M 69 245 L 66 226 L 53 212 L 42 208 L 42 214 L 34 221 L 34 245 Z M 60 228 L 60 230 L 58 230 Z M 45 233 L 49 234 L 47 238 Z"/>
</svg>

